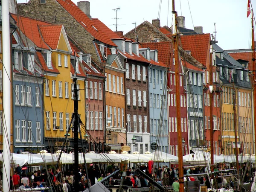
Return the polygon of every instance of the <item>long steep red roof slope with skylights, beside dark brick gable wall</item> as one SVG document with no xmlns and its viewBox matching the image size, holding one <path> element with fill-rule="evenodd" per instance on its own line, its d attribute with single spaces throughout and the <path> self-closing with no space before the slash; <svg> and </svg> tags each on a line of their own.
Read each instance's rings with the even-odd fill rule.
<svg viewBox="0 0 256 192">
<path fill-rule="evenodd" d="M 93 35 L 94 38 L 97 40 L 108 44 L 112 46 L 116 46 L 116 44 L 113 43 L 113 41 L 110 40 L 110 38 L 105 34 L 104 31 L 102 31 L 100 28 L 97 29 L 97 26 L 93 22 L 93 20 L 90 20 L 87 15 L 84 14 L 84 12 L 79 9 L 78 6 L 76 6 L 75 3 L 73 3 L 71 0 L 57 0 L 57 2 L 72 15 L 80 24 L 84 27 L 91 35 Z M 82 23 L 81 23 L 82 22 Z M 84 24 L 86 26 L 84 26 Z M 96 29 L 93 28 L 96 27 Z"/>
</svg>

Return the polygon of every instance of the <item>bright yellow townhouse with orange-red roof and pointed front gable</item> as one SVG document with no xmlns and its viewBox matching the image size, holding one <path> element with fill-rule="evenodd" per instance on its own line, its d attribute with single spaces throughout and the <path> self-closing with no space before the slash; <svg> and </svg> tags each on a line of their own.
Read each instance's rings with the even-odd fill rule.
<svg viewBox="0 0 256 192">
<path fill-rule="evenodd" d="M 17 20 L 17 17 L 14 16 Z M 74 70 L 78 78 L 78 89 L 84 89 L 85 74 L 75 59 L 67 35 L 62 25 L 52 25 L 47 22 L 28 17 L 19 17 L 17 23 L 20 32 L 26 35 L 29 45 L 35 47 L 35 58 L 41 64 L 41 74 L 44 75 L 44 146 L 49 151 L 56 151 L 63 145 L 72 150 L 71 125 L 73 107 Z M 29 33 L 32 31 L 32 33 Z M 76 61 L 75 61 L 76 60 Z M 79 116 L 85 121 L 84 94 L 79 90 Z M 71 126 L 72 128 L 72 126 Z M 64 137 L 68 134 L 68 140 Z M 53 147 L 52 147 L 53 146 Z"/>
</svg>

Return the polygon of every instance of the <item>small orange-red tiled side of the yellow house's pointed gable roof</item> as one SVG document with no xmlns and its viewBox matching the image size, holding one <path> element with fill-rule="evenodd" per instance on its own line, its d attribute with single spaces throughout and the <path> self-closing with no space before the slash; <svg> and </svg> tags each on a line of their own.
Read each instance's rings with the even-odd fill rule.
<svg viewBox="0 0 256 192">
<path fill-rule="evenodd" d="M 62 25 L 39 26 L 39 29 L 47 45 L 52 49 L 57 49 Z"/>
</svg>

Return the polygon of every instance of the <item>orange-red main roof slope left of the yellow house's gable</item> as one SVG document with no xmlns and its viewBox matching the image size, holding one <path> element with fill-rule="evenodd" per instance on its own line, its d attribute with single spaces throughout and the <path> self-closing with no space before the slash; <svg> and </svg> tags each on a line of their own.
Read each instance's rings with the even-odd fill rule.
<svg viewBox="0 0 256 192">
<path fill-rule="evenodd" d="M 49 25 L 49 23 L 22 16 L 19 16 L 19 19 L 17 19 L 17 15 L 14 14 L 12 14 L 12 17 L 16 20 L 18 28 L 27 38 L 33 41 L 37 47 L 49 49 L 38 30 L 38 25 Z"/>
</svg>

